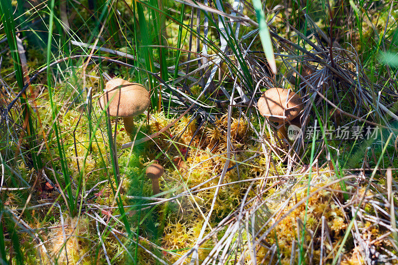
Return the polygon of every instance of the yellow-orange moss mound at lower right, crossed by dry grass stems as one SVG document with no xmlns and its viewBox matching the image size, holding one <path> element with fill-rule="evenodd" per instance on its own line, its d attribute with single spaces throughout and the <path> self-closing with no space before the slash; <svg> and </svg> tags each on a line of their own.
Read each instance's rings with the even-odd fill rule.
<svg viewBox="0 0 398 265">
<path fill-rule="evenodd" d="M 323 242 L 323 253 L 330 253 L 331 250 L 337 248 L 349 225 L 348 213 L 345 211 L 343 203 L 350 204 L 365 197 L 367 199 L 361 205 L 361 209 L 368 213 L 373 211 L 372 205 L 367 202 L 370 198 L 376 197 L 372 191 L 368 190 L 365 193 L 365 187 L 349 186 L 347 190 L 353 196 L 349 201 L 344 201 L 340 184 L 331 183 L 329 174 L 320 173 L 320 176 L 311 181 L 309 189 L 303 183 L 296 185 L 289 194 L 288 201 L 283 202 L 284 204 L 287 203 L 286 205 L 281 205 L 281 201 L 267 203 L 270 213 L 277 213 L 277 217 L 272 218 L 265 228 L 273 227 L 273 230 L 269 237 L 264 239 L 264 244 L 277 244 L 279 246 L 282 264 L 290 264 L 292 244 L 297 244 L 298 240 L 304 245 L 305 262 L 309 264 L 319 263 L 322 233 L 328 235 L 328 240 Z M 275 222 L 276 220 L 278 220 L 278 223 Z M 306 231 L 302 237 L 304 223 Z M 373 241 L 376 248 L 382 246 L 391 248 L 389 241 L 382 238 L 382 235 L 386 233 L 384 227 L 368 220 L 358 220 L 356 225 L 358 229 L 356 233 L 360 231 L 362 237 Z M 269 262 L 269 258 L 263 260 L 266 252 L 265 248 L 258 250 L 257 261 L 259 263 Z M 364 260 L 358 256 L 357 248 L 345 248 L 344 256 L 347 259 L 344 264 L 364 263 Z M 327 258 L 323 257 L 323 261 L 331 262 L 332 258 L 328 255 Z M 297 260 L 298 257 L 296 257 Z"/>
</svg>

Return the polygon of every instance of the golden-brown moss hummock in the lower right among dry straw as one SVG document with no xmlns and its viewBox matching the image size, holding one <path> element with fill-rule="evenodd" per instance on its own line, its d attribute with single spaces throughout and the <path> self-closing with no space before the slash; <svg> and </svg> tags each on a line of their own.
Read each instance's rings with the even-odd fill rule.
<svg viewBox="0 0 398 265">
<path fill-rule="evenodd" d="M 298 240 L 298 220 L 301 223 L 304 223 L 305 227 L 308 231 L 312 231 L 314 234 L 310 235 L 308 231 L 304 235 L 304 251 L 306 251 L 309 247 L 308 244 L 314 244 L 313 250 L 313 260 L 314 263 L 319 263 L 319 242 L 320 242 L 320 227 L 321 227 L 321 217 L 325 217 L 326 225 L 328 227 L 328 231 L 330 233 L 330 238 L 332 240 L 332 246 L 329 246 L 328 242 L 325 242 L 327 250 L 324 250 L 329 253 L 330 248 L 335 248 L 338 246 L 340 240 L 344 237 L 344 233 L 348 227 L 350 220 L 347 220 L 347 213 L 342 208 L 341 203 L 344 201 L 343 195 L 341 192 L 341 187 L 338 183 L 328 186 L 328 173 L 316 177 L 313 181 L 311 181 L 311 186 L 309 188 L 309 193 L 311 194 L 313 191 L 317 190 L 320 187 L 325 186 L 326 188 L 319 190 L 312 196 L 308 198 L 308 204 L 306 206 L 305 203 L 300 204 L 297 207 L 297 202 L 306 198 L 307 196 L 307 186 L 303 184 L 298 184 L 293 190 L 292 194 L 295 194 L 294 198 L 292 198 L 289 204 L 282 209 L 282 211 L 278 212 L 278 217 L 283 216 L 285 213 L 291 211 L 288 216 L 282 219 L 274 228 L 274 230 L 264 239 L 267 244 L 277 244 L 279 248 L 279 252 L 281 253 L 281 263 L 282 264 L 290 264 L 291 258 L 291 250 L 292 244 L 294 241 Z M 349 188 L 352 190 L 352 187 Z M 353 197 L 353 199 L 361 198 L 364 195 L 365 188 L 361 187 L 359 189 L 358 195 Z M 366 195 L 371 197 L 374 193 L 370 190 L 367 191 Z M 339 204 L 336 204 L 336 200 L 339 201 Z M 280 202 L 275 203 L 267 203 L 268 208 L 271 211 L 276 211 L 281 206 Z M 362 206 L 366 208 L 368 203 L 364 203 Z M 273 220 L 265 229 L 274 225 Z M 365 238 L 376 239 L 381 237 L 384 232 L 380 229 L 380 227 L 375 227 L 370 224 L 370 222 L 366 221 L 365 223 L 360 220 L 357 221 L 358 227 L 362 230 L 362 234 Z M 301 230 L 302 226 L 300 225 L 300 237 L 302 235 Z M 369 227 L 369 229 L 366 229 Z M 302 240 L 300 238 L 300 240 Z M 382 240 L 381 240 L 382 241 Z M 324 245 L 324 246 L 326 246 Z M 377 244 L 376 244 L 377 247 Z M 346 249 L 345 255 L 348 256 L 348 259 L 344 264 L 355 264 L 358 262 L 358 257 L 355 257 L 358 250 L 356 249 Z M 263 258 L 266 257 L 266 249 L 260 248 L 257 253 L 257 262 L 263 261 Z M 265 261 L 268 263 L 268 258 L 265 258 Z M 306 262 L 309 262 L 309 256 L 306 255 Z M 297 256 L 296 256 L 297 261 Z"/>
</svg>

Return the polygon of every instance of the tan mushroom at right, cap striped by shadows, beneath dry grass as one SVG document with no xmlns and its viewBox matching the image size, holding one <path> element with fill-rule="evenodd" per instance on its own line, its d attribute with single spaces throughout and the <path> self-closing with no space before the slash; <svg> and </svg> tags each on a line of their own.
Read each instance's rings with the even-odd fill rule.
<svg viewBox="0 0 398 265">
<path fill-rule="evenodd" d="M 278 123 L 279 132 L 288 139 L 286 124 L 300 125 L 301 97 L 290 89 L 270 88 L 259 98 L 257 107 L 264 117 Z M 301 127 L 301 126 L 298 126 Z"/>
</svg>

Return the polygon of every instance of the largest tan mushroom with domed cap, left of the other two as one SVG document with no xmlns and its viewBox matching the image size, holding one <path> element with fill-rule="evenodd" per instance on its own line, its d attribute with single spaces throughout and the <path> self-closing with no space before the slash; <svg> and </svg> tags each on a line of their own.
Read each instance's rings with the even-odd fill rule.
<svg viewBox="0 0 398 265">
<path fill-rule="evenodd" d="M 148 108 L 150 97 L 144 86 L 115 78 L 106 82 L 105 93 L 99 101 L 100 108 L 104 109 L 109 101 L 108 114 L 123 117 L 124 129 L 131 135 L 134 128 L 133 117 Z"/>
</svg>

